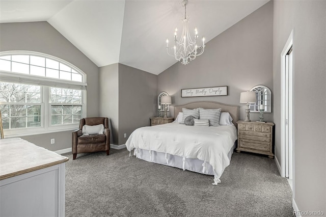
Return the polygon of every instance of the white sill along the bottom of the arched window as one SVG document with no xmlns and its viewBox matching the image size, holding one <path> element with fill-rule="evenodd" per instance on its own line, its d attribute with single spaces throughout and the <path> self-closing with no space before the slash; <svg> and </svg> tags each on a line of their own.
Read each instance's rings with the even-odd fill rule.
<svg viewBox="0 0 326 217">
<path fill-rule="evenodd" d="M 38 134 L 46 134 L 46 133 L 53 133 L 53 132 L 63 132 L 63 131 L 73 131 L 78 129 L 79 125 L 76 126 L 69 126 L 69 127 L 61 127 L 56 129 L 44 129 L 44 128 L 37 128 L 37 129 L 25 129 L 21 132 L 13 132 L 13 131 L 6 131 L 4 130 L 4 138 L 13 138 L 13 137 L 24 137 L 26 135 L 38 135 Z"/>
</svg>

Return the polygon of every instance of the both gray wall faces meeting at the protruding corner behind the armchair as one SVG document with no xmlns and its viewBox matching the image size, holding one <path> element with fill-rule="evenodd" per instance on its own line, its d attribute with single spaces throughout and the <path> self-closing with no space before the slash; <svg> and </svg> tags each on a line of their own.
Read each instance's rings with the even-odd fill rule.
<svg viewBox="0 0 326 217">
<path fill-rule="evenodd" d="M 99 84 L 100 115 L 111 120 L 111 144 L 123 145 L 155 116 L 157 75 L 116 63 L 100 67 Z"/>
</svg>

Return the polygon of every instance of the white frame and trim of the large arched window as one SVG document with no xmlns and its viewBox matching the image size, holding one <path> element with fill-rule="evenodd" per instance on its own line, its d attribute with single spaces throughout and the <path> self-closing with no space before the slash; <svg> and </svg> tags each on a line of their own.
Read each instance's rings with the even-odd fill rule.
<svg viewBox="0 0 326 217">
<path fill-rule="evenodd" d="M 4 129 L 5 138 L 12 137 L 22 137 L 26 135 L 36 135 L 36 134 L 44 134 L 44 133 L 52 133 L 52 132 L 62 132 L 62 131 L 70 131 L 78 128 L 79 123 L 72 124 L 62 124 L 62 125 L 51 125 L 51 104 L 58 103 L 50 103 L 49 102 L 49 89 L 50 87 L 60 87 L 66 89 L 80 89 L 82 90 L 82 103 L 78 103 L 76 105 L 82 106 L 82 118 L 86 117 L 86 87 L 87 87 L 87 77 L 86 73 L 82 70 L 78 69 L 76 66 L 68 63 L 65 60 L 60 58 L 47 55 L 45 53 L 34 52 L 34 51 L 2 51 L 0 52 L 0 56 L 9 56 L 9 55 L 30 55 L 43 57 L 47 59 L 52 59 L 58 61 L 59 63 L 65 64 L 75 70 L 76 72 L 82 75 L 83 82 L 74 82 L 71 80 L 57 79 L 57 78 L 49 78 L 42 77 L 30 74 L 21 74 L 16 72 L 9 71 L 0 71 L 0 80 L 2 82 L 8 83 L 21 83 L 26 85 L 38 85 L 41 87 L 41 103 L 33 103 L 41 105 L 41 126 L 39 127 L 24 127 L 24 128 L 14 128 L 14 129 Z M 2 103 L 8 104 L 8 103 Z M 19 103 L 19 104 L 29 104 L 29 103 Z M 60 103 L 63 105 L 64 103 Z M 71 105 L 69 103 L 69 105 Z"/>
</svg>

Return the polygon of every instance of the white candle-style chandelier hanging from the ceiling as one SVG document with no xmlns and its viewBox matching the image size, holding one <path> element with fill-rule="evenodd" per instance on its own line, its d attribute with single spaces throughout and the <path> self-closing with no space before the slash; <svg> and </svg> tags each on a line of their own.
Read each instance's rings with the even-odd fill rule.
<svg viewBox="0 0 326 217">
<path fill-rule="evenodd" d="M 198 39 L 197 28 L 195 28 L 194 41 L 190 37 L 188 30 L 188 19 L 186 16 L 186 5 L 188 0 L 183 0 L 181 3 L 184 6 L 183 31 L 178 41 L 177 28 L 174 32 L 174 47 L 169 47 L 169 40 L 167 39 L 167 52 L 171 57 L 175 57 L 177 61 L 181 61 L 183 65 L 187 65 L 190 61 L 195 60 L 197 56 L 202 55 L 205 49 L 205 38 L 203 37 L 203 45 L 198 46 L 196 40 Z"/>
</svg>

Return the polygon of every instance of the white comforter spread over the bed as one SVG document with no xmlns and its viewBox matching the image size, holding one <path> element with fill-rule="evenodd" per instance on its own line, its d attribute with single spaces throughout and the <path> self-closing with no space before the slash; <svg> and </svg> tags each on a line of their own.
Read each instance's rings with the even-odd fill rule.
<svg viewBox="0 0 326 217">
<path fill-rule="evenodd" d="M 221 177 L 229 166 L 228 152 L 237 140 L 235 126 L 187 126 L 169 123 L 134 130 L 126 142 L 134 148 L 198 158 L 208 162 L 216 176 Z"/>
</svg>

